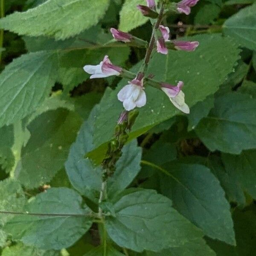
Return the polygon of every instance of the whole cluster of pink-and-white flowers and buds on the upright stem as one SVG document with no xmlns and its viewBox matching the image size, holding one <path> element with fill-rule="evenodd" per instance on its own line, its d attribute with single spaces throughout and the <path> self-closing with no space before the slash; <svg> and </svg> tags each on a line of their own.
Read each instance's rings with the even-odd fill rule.
<svg viewBox="0 0 256 256">
<path fill-rule="evenodd" d="M 160 16 L 160 14 L 158 14 L 157 12 L 157 7 L 154 0 L 146 0 L 146 2 L 147 6 L 137 6 L 140 12 L 144 16 L 151 17 L 152 19 Z M 182 0 L 179 3 L 177 3 L 176 10 L 178 13 L 185 13 L 186 15 L 189 15 L 190 7 L 195 6 L 197 2 L 198 0 Z M 136 43 L 142 41 L 140 38 L 136 38 L 127 32 L 120 31 L 119 29 L 111 28 L 110 31 L 113 35 L 113 38 L 115 38 L 117 41 L 122 41 L 124 43 Z M 197 41 L 170 40 L 170 30 L 168 27 L 163 25 L 159 25 L 154 28 L 154 35 L 156 39 L 155 41 L 157 52 L 161 54 L 167 54 L 168 49 L 183 50 L 190 52 L 194 51 L 199 45 Z M 105 78 L 108 76 L 126 77 L 125 73 L 128 72 L 127 70 L 121 67 L 113 65 L 107 55 L 104 57 L 103 61 L 100 62 L 100 64 L 98 65 L 84 66 L 84 71 L 91 74 L 90 79 Z M 144 76 L 144 73 L 138 73 L 137 76 L 134 79 L 132 79 L 132 81 L 128 81 L 128 84 L 125 85 L 117 94 L 117 98 L 119 99 L 119 101 L 123 103 L 123 106 L 126 111 L 131 111 L 136 107 L 141 108 L 146 104 L 147 99 L 144 90 L 144 83 L 145 81 L 150 80 L 150 78 L 148 77 L 147 79 L 145 79 Z M 164 93 L 166 93 L 166 95 L 169 97 L 170 101 L 176 108 L 178 108 L 183 113 L 189 113 L 189 106 L 186 105 L 185 95 L 181 90 L 181 88 L 184 85 L 183 81 L 179 81 L 177 86 L 166 83 L 159 83 L 153 80 L 151 82 L 157 84 L 157 87 Z"/>
</svg>

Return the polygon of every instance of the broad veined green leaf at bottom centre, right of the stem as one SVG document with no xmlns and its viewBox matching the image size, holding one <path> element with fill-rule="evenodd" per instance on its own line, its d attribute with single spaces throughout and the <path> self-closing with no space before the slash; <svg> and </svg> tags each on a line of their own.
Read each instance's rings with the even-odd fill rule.
<svg viewBox="0 0 256 256">
<path fill-rule="evenodd" d="M 110 238 L 120 247 L 160 251 L 200 239 L 202 233 L 154 190 L 130 192 L 114 203 L 116 217 L 106 217 Z"/>
</svg>

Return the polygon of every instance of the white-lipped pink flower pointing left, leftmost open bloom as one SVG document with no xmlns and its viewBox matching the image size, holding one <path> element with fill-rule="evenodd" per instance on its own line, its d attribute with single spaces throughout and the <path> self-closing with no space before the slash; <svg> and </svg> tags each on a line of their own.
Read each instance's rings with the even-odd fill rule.
<svg viewBox="0 0 256 256">
<path fill-rule="evenodd" d="M 90 79 L 108 76 L 119 76 L 122 68 L 114 66 L 106 55 L 99 65 L 85 65 L 84 71 L 91 74 Z"/>
</svg>

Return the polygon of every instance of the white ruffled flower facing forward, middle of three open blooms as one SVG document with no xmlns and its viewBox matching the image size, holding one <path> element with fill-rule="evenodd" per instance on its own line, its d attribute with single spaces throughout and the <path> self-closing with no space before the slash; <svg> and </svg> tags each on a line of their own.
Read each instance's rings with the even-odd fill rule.
<svg viewBox="0 0 256 256">
<path fill-rule="evenodd" d="M 136 107 L 141 108 L 146 104 L 146 94 L 143 87 L 143 79 L 133 79 L 129 84 L 125 85 L 119 93 L 117 98 L 123 102 L 125 110 L 130 111 Z"/>
</svg>

